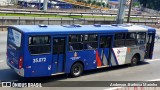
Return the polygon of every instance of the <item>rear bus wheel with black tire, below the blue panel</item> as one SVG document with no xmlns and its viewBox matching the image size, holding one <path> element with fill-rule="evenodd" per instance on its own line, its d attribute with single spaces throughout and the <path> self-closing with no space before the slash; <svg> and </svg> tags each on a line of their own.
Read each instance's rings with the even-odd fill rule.
<svg viewBox="0 0 160 90">
<path fill-rule="evenodd" d="M 83 73 L 83 65 L 81 63 L 75 63 L 71 67 L 71 77 L 79 77 Z"/>
</svg>

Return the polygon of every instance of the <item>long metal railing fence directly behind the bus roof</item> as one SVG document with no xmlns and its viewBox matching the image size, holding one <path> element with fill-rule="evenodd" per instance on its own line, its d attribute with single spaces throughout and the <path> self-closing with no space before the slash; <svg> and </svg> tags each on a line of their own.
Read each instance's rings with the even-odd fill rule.
<svg viewBox="0 0 160 90">
<path fill-rule="evenodd" d="M 116 17 L 112 18 L 42 18 L 42 17 L 0 17 L 0 28 L 4 30 L 8 25 L 64 25 L 64 24 L 114 24 Z M 124 20 L 126 23 L 126 19 Z M 131 19 L 130 23 L 149 25 L 159 28 L 158 18 Z"/>
</svg>

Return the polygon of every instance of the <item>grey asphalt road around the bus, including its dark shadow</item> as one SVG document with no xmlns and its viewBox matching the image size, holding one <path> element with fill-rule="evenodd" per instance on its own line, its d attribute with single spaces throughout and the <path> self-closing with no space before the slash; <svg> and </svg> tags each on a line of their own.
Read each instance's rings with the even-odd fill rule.
<svg viewBox="0 0 160 90">
<path fill-rule="evenodd" d="M 153 52 L 153 59 L 141 63 L 138 66 L 130 67 L 128 65 L 97 69 L 91 71 L 85 71 L 83 76 L 77 78 L 70 78 L 67 75 L 57 75 L 52 77 L 41 78 L 22 78 L 18 76 L 13 70 L 6 65 L 6 37 L 7 32 L 0 32 L 0 81 L 18 81 L 18 82 L 38 82 L 42 83 L 42 86 L 50 86 L 45 88 L 36 88 L 40 90 L 107 90 L 112 89 L 110 87 L 74 87 L 81 85 L 90 85 L 90 83 L 80 81 L 148 81 L 158 80 L 160 81 L 160 40 L 155 41 L 155 48 Z M 157 31 L 160 35 L 160 31 Z M 57 82 L 68 81 L 68 82 Z M 74 82 L 79 81 L 79 82 Z M 96 83 L 99 85 L 101 83 Z M 70 87 L 61 87 L 68 85 Z M 96 86 L 95 85 L 95 86 Z M 57 87 L 51 87 L 57 86 Z M 4 89 L 4 88 L 0 88 Z M 17 88 L 6 88 L 6 90 L 17 90 Z M 27 90 L 34 90 L 35 88 L 21 88 Z M 155 89 L 156 90 L 156 89 Z"/>
</svg>

